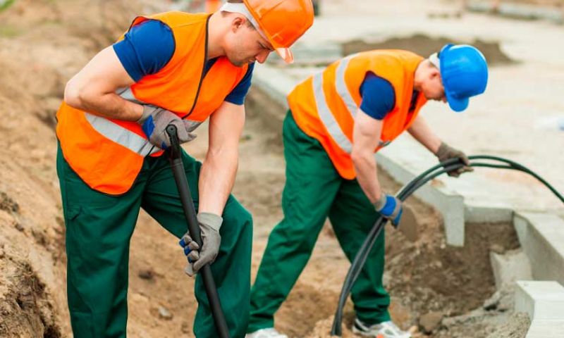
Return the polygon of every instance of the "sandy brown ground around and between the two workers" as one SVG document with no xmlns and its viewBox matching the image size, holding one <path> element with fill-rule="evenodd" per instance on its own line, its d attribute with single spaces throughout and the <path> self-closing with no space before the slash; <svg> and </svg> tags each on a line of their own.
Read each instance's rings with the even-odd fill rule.
<svg viewBox="0 0 564 338">
<path fill-rule="evenodd" d="M 1 337 L 71 337 L 54 112 L 66 80 L 125 29 L 133 13 L 150 8 L 142 1 L 21 0 L 0 14 Z M 198 134 L 186 149 L 203 158 L 205 126 Z M 279 130 L 264 127 L 260 109 L 249 111 L 240 151 L 233 193 L 255 219 L 254 276 L 281 219 L 285 181 Z M 398 189 L 384 173 L 381 180 L 386 189 Z M 524 337 L 528 320 L 511 313 L 510 292 L 494 294 L 489 266 L 492 245 L 501 251 L 517 246 L 510 227 L 473 225 L 467 246 L 453 249 L 444 244 L 438 214 L 416 200 L 408 204 L 419 215 L 419 239 L 409 242 L 389 228 L 386 233 L 384 279 L 393 318 L 418 337 L 429 337 L 417 328 L 429 313 L 442 320 L 431 337 Z M 184 265 L 176 239 L 141 213 L 130 251 L 130 337 L 192 337 L 196 306 Z M 290 337 L 328 337 L 348 265 L 328 224 L 278 311 L 276 327 Z M 494 306 L 486 309 L 488 300 Z M 353 317 L 349 303 L 345 326 Z"/>
</svg>

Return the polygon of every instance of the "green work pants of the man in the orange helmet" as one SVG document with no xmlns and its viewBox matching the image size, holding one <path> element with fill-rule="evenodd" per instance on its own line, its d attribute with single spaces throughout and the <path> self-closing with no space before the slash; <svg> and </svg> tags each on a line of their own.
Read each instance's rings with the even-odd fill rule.
<svg viewBox="0 0 564 338">
<path fill-rule="evenodd" d="M 182 160 L 197 209 L 202 163 L 184 151 Z M 74 337 L 125 337 L 129 245 L 140 208 L 176 237 L 171 236 L 173 242 L 188 230 L 168 159 L 145 158 L 135 184 L 121 196 L 88 187 L 69 167 L 60 147 L 57 173 L 66 223 L 68 308 Z M 211 265 L 212 274 L 231 337 L 244 337 L 249 312 L 252 219 L 233 196 L 229 196 L 223 211 L 220 234 L 221 246 Z M 178 255 L 183 254 L 178 246 Z M 178 266 L 179 270 L 183 268 Z M 178 288 L 185 282 L 178 280 Z M 200 275 L 195 282 L 195 296 L 196 337 L 217 337 Z"/>
</svg>

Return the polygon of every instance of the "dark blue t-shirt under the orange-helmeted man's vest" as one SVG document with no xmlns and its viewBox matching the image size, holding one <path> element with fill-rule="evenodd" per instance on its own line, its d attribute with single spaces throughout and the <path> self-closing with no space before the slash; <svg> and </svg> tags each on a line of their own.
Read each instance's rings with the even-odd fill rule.
<svg viewBox="0 0 564 338">
<path fill-rule="evenodd" d="M 135 82 L 146 75 L 158 73 L 171 61 L 175 49 L 171 28 L 159 20 L 147 20 L 132 27 L 123 40 L 114 44 L 119 61 Z M 212 68 L 216 60 L 217 58 L 212 58 L 206 62 L 204 74 Z M 243 104 L 251 86 L 253 68 L 255 63 L 250 63 L 247 73 L 226 96 L 225 101 Z"/>
</svg>

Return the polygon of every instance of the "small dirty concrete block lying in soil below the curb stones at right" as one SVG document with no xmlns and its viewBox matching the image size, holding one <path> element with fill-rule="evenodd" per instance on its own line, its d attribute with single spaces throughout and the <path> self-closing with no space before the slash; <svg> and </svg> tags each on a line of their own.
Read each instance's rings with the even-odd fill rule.
<svg viewBox="0 0 564 338">
<path fill-rule="evenodd" d="M 532 280 L 531 264 L 522 250 L 508 251 L 503 255 L 491 252 L 489 257 L 496 279 L 496 289 L 513 284 L 517 280 Z"/>
</svg>

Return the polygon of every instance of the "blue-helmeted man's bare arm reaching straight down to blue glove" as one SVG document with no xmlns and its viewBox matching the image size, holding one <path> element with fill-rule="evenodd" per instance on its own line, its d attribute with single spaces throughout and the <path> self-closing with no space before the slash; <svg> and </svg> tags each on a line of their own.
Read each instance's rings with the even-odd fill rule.
<svg viewBox="0 0 564 338">
<path fill-rule="evenodd" d="M 353 130 L 353 165 L 362 191 L 372 204 L 381 198 L 374 149 L 378 146 L 382 132 L 382 121 L 376 120 L 359 109 Z"/>
</svg>

